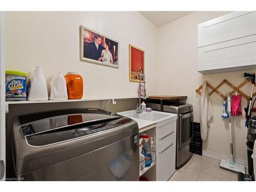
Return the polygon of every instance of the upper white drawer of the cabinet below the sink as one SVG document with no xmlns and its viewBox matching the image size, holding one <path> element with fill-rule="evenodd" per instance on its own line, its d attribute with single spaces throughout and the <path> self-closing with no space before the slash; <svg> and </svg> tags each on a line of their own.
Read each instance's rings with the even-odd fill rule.
<svg viewBox="0 0 256 192">
<path fill-rule="evenodd" d="M 163 144 L 168 139 L 176 135 L 177 120 L 172 120 L 156 129 L 156 146 Z"/>
</svg>

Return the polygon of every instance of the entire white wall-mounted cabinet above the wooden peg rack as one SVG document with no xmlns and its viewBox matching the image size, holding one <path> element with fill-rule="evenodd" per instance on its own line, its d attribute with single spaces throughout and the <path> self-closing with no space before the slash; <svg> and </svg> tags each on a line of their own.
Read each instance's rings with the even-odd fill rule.
<svg viewBox="0 0 256 192">
<path fill-rule="evenodd" d="M 256 69 L 256 12 L 232 12 L 198 25 L 198 71 Z"/>
</svg>

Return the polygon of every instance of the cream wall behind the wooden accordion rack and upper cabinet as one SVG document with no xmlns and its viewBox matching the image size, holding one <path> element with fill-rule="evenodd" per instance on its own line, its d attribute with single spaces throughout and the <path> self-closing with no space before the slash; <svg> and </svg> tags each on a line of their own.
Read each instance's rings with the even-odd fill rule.
<svg viewBox="0 0 256 192">
<path fill-rule="evenodd" d="M 195 90 L 207 80 L 216 87 L 223 79 L 229 80 L 234 86 L 243 82 L 244 71 L 206 74 L 197 72 L 197 25 L 206 20 L 219 17 L 228 12 L 194 12 L 172 23 L 159 28 L 158 31 L 158 67 L 161 75 L 158 78 L 158 94 L 161 95 L 187 95 L 187 102 L 194 105 L 194 120 L 200 122 L 200 96 Z M 247 71 L 255 72 L 255 71 Z M 231 89 L 223 86 L 226 94 Z M 250 95 L 251 84 L 247 83 L 243 89 Z M 203 150 L 217 155 L 229 156 L 228 120 L 221 119 L 221 105 L 223 99 L 216 93 L 210 96 L 213 118 L 208 138 L 203 142 Z M 247 104 L 242 100 L 242 108 Z M 244 127 L 245 117 L 233 117 L 233 147 L 234 158 L 246 162 L 246 134 Z"/>
</svg>

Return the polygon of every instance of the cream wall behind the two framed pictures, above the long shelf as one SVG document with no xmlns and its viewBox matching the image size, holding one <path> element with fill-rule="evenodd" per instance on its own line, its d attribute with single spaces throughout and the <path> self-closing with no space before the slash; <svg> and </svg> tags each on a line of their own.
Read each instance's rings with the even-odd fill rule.
<svg viewBox="0 0 256 192">
<path fill-rule="evenodd" d="M 147 94 L 155 94 L 157 27 L 139 12 L 7 12 L 6 24 L 7 70 L 29 72 L 40 65 L 46 78 L 76 71 L 84 79 L 84 98 L 134 97 L 132 44 L 145 50 Z M 80 61 L 80 25 L 120 42 L 119 69 Z"/>
</svg>

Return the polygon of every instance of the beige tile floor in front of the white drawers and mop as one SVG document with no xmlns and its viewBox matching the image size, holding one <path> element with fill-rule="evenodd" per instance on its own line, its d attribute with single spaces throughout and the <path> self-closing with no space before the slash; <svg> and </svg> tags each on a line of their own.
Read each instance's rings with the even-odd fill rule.
<svg viewBox="0 0 256 192">
<path fill-rule="evenodd" d="M 169 181 L 237 181 L 235 173 L 219 167 L 220 160 L 194 154 L 189 162 L 176 170 Z"/>
</svg>

